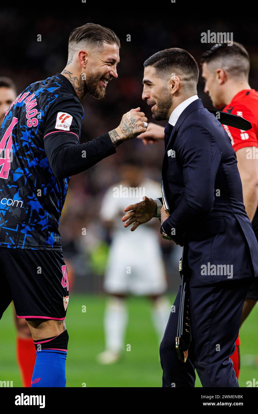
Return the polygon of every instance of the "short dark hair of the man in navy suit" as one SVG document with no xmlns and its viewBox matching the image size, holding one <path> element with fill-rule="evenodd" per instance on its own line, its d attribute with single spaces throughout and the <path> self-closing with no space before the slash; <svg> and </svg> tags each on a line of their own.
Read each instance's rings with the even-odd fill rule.
<svg viewBox="0 0 258 414">
<path fill-rule="evenodd" d="M 187 75 L 190 81 L 198 83 L 199 68 L 197 62 L 184 49 L 170 48 L 154 53 L 154 55 L 145 60 L 143 66 L 153 66 L 162 72 L 167 72 L 168 70 L 176 72 L 176 70 L 179 70 L 184 75 Z"/>
</svg>

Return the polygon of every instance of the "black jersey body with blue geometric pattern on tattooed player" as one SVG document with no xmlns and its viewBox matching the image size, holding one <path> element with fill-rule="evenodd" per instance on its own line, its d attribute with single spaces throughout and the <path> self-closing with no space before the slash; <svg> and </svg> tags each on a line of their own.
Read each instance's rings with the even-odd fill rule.
<svg viewBox="0 0 258 414">
<path fill-rule="evenodd" d="M 17 118 L 11 135 L 10 171 L 7 178 L 0 177 L 0 246 L 61 250 L 58 224 L 70 177 L 58 180 L 51 170 L 44 150 L 44 123 L 52 116 L 52 105 L 60 92 L 75 97 L 69 85 L 57 76 L 32 83 L 20 96 L 27 92 L 21 102 L 10 106 L 0 128 L 1 142 L 13 118 Z M 34 124 L 28 125 L 30 102 L 24 100 L 31 94 L 34 97 L 30 102 L 36 99 L 36 106 L 32 102 L 29 111 L 36 109 L 37 113 L 30 118 L 36 118 Z"/>
</svg>

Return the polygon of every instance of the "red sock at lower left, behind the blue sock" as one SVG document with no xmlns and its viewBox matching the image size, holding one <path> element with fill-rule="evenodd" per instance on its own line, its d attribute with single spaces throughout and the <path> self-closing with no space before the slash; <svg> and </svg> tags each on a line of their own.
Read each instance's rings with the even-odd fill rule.
<svg viewBox="0 0 258 414">
<path fill-rule="evenodd" d="M 32 338 L 17 337 L 16 356 L 22 375 L 22 384 L 24 387 L 30 387 L 36 361 L 36 349 Z"/>
</svg>

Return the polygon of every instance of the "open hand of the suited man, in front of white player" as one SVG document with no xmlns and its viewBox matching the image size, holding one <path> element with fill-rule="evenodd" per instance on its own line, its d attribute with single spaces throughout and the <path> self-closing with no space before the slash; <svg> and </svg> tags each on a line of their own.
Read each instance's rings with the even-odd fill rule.
<svg viewBox="0 0 258 414">
<path fill-rule="evenodd" d="M 156 202 L 146 196 L 142 197 L 142 200 L 139 203 L 125 207 L 124 211 L 128 213 L 122 217 L 122 221 L 126 221 L 124 227 L 133 224 L 131 231 L 135 231 L 140 224 L 147 223 L 147 221 L 154 217 L 157 206 Z"/>
</svg>

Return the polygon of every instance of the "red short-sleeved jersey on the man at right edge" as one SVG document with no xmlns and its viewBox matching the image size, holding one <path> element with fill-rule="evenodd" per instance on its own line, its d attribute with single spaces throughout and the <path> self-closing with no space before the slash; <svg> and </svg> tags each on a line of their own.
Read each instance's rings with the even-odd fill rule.
<svg viewBox="0 0 258 414">
<path fill-rule="evenodd" d="M 223 112 L 241 116 L 252 124 L 252 128 L 248 131 L 223 125 L 235 152 L 244 147 L 258 147 L 258 92 L 255 89 L 240 91 L 229 105 L 225 106 Z"/>
</svg>

